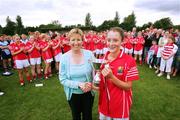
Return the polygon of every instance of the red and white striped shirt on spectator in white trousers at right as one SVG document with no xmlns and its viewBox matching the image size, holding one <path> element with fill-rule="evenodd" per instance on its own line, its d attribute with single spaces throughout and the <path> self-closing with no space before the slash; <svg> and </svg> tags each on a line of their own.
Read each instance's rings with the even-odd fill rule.
<svg viewBox="0 0 180 120">
<path fill-rule="evenodd" d="M 164 45 L 163 50 L 162 50 L 162 55 L 164 57 L 170 57 L 172 54 L 175 54 L 178 50 L 177 45 L 173 43 L 167 43 Z"/>
</svg>

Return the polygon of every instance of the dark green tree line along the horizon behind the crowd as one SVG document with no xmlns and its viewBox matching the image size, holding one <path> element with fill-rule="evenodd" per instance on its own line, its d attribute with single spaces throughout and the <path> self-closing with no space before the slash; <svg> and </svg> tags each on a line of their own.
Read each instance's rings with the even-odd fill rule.
<svg viewBox="0 0 180 120">
<path fill-rule="evenodd" d="M 39 26 L 28 26 L 25 27 L 23 25 L 23 21 L 21 16 L 17 15 L 16 22 L 12 21 L 9 16 L 6 18 L 6 26 L 2 27 L 0 25 L 0 34 L 6 35 L 14 35 L 14 34 L 28 34 L 29 31 L 40 31 L 47 32 L 49 30 L 52 31 L 69 31 L 74 27 L 81 28 L 82 30 L 95 30 L 95 31 L 103 31 L 107 30 L 111 27 L 119 26 L 122 27 L 126 31 L 132 30 L 133 27 L 137 27 L 138 30 L 146 29 L 147 27 L 153 26 L 155 28 L 169 29 L 175 28 L 180 29 L 180 25 L 173 25 L 171 19 L 169 17 L 162 18 L 160 20 L 155 21 L 154 23 L 148 22 L 142 26 L 136 26 L 136 16 L 135 13 L 132 12 L 130 15 L 125 17 L 122 22 L 120 22 L 119 13 L 115 12 L 115 17 L 111 20 L 105 20 L 101 25 L 95 26 L 91 20 L 91 14 L 87 13 L 85 17 L 84 24 L 77 25 L 69 25 L 62 27 L 61 23 L 58 20 L 53 20 L 49 24 L 41 24 Z"/>
</svg>

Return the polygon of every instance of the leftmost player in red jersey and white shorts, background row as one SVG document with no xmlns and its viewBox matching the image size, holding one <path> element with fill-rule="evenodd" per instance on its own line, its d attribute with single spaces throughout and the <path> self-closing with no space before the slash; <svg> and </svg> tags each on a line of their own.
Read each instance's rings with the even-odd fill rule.
<svg viewBox="0 0 180 120">
<path fill-rule="evenodd" d="M 24 49 L 25 44 L 20 41 L 19 36 L 15 36 L 15 41 L 9 45 L 9 49 L 13 56 L 13 60 L 18 70 L 20 85 L 24 85 L 23 73 L 26 74 L 26 78 L 29 82 L 32 82 L 30 74 L 28 72 L 29 62 Z"/>
</svg>

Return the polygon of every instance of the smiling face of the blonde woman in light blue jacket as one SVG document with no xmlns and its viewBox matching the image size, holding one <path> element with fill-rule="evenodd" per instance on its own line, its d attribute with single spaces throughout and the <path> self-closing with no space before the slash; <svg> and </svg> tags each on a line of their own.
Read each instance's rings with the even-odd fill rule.
<svg viewBox="0 0 180 120">
<path fill-rule="evenodd" d="M 71 46 L 71 50 L 80 50 L 82 48 L 82 36 L 80 34 L 73 33 L 70 37 L 69 44 Z"/>
</svg>

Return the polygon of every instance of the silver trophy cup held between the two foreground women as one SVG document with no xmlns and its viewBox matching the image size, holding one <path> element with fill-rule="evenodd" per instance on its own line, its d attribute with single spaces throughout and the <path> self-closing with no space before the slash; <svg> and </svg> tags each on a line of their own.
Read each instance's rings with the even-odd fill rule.
<svg viewBox="0 0 180 120">
<path fill-rule="evenodd" d="M 93 66 L 94 72 L 96 72 L 96 74 L 93 78 L 93 83 L 95 86 L 99 86 L 99 83 L 101 80 L 100 79 L 100 68 L 103 63 L 104 63 L 104 61 L 101 59 L 93 59 L 92 60 L 92 66 Z"/>
</svg>

